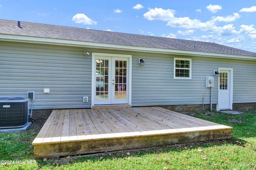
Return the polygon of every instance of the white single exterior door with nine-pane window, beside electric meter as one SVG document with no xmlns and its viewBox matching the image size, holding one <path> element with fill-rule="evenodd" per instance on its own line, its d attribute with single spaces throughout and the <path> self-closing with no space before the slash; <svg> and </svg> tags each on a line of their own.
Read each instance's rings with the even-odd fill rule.
<svg viewBox="0 0 256 170">
<path fill-rule="evenodd" d="M 219 70 L 218 108 L 232 109 L 232 70 Z"/>
</svg>

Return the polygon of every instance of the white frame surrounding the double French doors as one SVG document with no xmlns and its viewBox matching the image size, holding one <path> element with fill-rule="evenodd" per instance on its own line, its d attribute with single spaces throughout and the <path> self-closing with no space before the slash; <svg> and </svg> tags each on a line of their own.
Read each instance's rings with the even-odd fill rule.
<svg viewBox="0 0 256 170">
<path fill-rule="evenodd" d="M 127 98 L 128 98 L 128 105 L 131 106 L 132 104 L 132 55 L 123 55 L 123 54 L 109 54 L 109 53 L 92 53 L 92 101 L 91 101 L 91 107 L 95 106 L 95 98 L 96 98 L 96 57 L 115 57 L 115 58 L 120 58 L 126 57 L 129 58 L 128 61 L 128 72 L 127 72 L 127 77 L 128 77 L 128 87 L 127 89 Z"/>
</svg>

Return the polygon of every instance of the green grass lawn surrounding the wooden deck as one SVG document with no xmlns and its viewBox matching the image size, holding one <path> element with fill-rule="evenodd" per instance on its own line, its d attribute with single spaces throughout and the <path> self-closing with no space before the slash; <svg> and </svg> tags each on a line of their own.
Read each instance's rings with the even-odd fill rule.
<svg viewBox="0 0 256 170">
<path fill-rule="evenodd" d="M 194 117 L 232 126 L 232 138 L 186 145 L 108 152 L 93 156 L 34 159 L 32 141 L 40 130 L 0 133 L 0 169 L 8 170 L 255 170 L 256 111 L 239 115 L 208 112 Z"/>
</svg>

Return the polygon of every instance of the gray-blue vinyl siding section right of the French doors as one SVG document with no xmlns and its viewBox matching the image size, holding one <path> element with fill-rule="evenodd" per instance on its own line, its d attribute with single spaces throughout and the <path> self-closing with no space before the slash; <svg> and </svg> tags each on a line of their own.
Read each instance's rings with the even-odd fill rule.
<svg viewBox="0 0 256 170">
<path fill-rule="evenodd" d="M 138 65 L 143 57 L 145 66 Z M 192 79 L 174 79 L 174 57 L 192 59 Z M 233 68 L 233 103 L 256 102 L 256 62 L 177 55 L 133 55 L 132 106 L 210 104 L 206 76 L 213 70 Z M 218 103 L 218 77 L 214 76 L 212 103 Z"/>
</svg>

